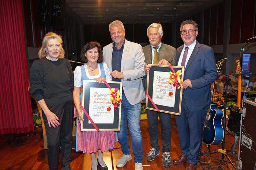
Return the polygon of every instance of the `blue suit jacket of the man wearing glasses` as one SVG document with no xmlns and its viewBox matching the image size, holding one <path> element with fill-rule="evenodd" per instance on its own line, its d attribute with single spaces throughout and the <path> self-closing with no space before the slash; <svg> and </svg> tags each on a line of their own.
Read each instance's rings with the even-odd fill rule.
<svg viewBox="0 0 256 170">
<path fill-rule="evenodd" d="M 183 47 L 184 45 L 178 47 L 176 51 L 176 65 Z M 216 78 L 216 62 L 213 49 L 196 42 L 184 72 L 184 80 L 190 79 L 192 88 L 183 89 L 184 97 L 182 100 L 185 100 L 190 111 L 199 111 L 210 106 L 210 84 Z"/>
</svg>

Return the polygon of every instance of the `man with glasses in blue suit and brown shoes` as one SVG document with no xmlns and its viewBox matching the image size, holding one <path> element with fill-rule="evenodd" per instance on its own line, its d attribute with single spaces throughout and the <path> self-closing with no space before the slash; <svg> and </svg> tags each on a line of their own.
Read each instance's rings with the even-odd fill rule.
<svg viewBox="0 0 256 170">
<path fill-rule="evenodd" d="M 210 84 L 217 78 L 213 49 L 196 41 L 195 21 L 185 20 L 180 26 L 184 45 L 176 51 L 176 65 L 184 66 L 181 116 L 175 116 L 182 155 L 176 165 L 188 162 L 186 170 L 195 170 L 199 161 L 203 124 L 211 103 Z"/>
</svg>

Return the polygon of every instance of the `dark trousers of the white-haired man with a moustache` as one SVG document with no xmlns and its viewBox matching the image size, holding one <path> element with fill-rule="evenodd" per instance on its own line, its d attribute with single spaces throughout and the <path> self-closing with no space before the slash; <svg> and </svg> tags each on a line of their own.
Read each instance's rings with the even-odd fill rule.
<svg viewBox="0 0 256 170">
<path fill-rule="evenodd" d="M 149 124 L 150 143 L 152 148 L 159 150 L 158 144 L 158 112 L 147 110 L 147 118 Z M 162 133 L 162 152 L 170 152 L 171 147 L 171 115 L 167 113 L 159 113 Z"/>
</svg>

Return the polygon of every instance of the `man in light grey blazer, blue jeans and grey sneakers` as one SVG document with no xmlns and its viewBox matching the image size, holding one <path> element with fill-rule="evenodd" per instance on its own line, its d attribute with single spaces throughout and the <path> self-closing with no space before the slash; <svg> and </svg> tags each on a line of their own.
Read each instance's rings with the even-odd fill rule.
<svg viewBox="0 0 256 170">
<path fill-rule="evenodd" d="M 121 21 L 109 24 L 113 43 L 103 47 L 104 62 L 109 67 L 112 81 L 123 82 L 121 128 L 117 133 L 123 155 L 117 167 L 123 167 L 132 159 L 129 149 L 127 120 L 131 134 L 132 150 L 136 170 L 142 170 L 142 135 L 140 131 L 140 102 L 145 98 L 142 79 L 145 75 L 145 57 L 142 46 L 124 38 L 125 29 Z"/>
</svg>

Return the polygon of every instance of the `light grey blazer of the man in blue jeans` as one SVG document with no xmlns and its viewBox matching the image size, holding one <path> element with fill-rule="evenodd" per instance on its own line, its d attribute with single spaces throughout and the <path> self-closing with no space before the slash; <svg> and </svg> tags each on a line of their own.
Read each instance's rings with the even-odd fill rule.
<svg viewBox="0 0 256 170">
<path fill-rule="evenodd" d="M 112 52 L 113 43 L 103 47 L 104 62 L 108 65 L 109 71 L 112 72 Z M 124 74 L 123 89 L 125 96 L 130 104 L 134 105 L 142 101 L 146 96 L 142 85 L 145 57 L 142 46 L 125 39 L 124 50 L 121 60 L 121 72 Z"/>
</svg>

